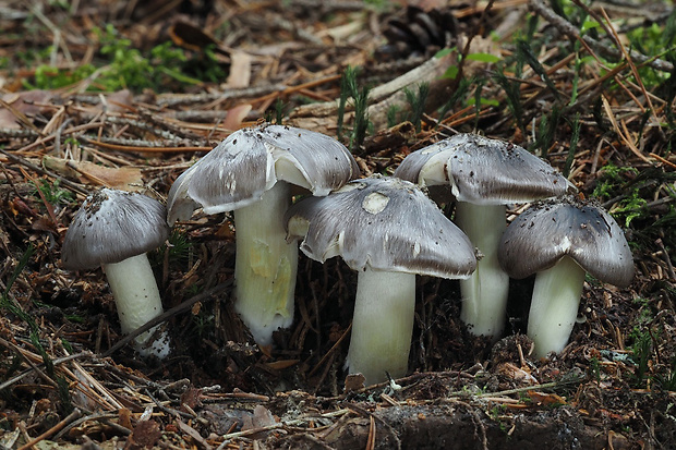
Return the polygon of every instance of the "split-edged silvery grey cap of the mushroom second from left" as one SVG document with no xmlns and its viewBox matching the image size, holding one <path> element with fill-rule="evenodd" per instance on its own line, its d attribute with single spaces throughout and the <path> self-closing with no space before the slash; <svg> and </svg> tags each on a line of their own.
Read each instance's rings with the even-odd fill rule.
<svg viewBox="0 0 676 450">
<path fill-rule="evenodd" d="M 350 151 L 324 134 L 267 124 L 242 129 L 176 180 L 168 221 L 188 219 L 198 207 L 218 214 L 250 205 L 277 180 L 323 196 L 359 173 Z"/>
</svg>

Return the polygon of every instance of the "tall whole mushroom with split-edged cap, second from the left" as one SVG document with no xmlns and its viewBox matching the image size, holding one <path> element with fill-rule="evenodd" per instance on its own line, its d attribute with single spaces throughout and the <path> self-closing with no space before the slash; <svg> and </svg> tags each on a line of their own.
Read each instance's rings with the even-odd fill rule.
<svg viewBox="0 0 676 450">
<path fill-rule="evenodd" d="M 169 224 L 202 207 L 234 211 L 234 308 L 255 341 L 293 321 L 298 246 L 286 241 L 283 214 L 291 185 L 327 195 L 359 175 L 357 161 L 336 139 L 282 125 L 232 133 L 183 172 L 169 191 Z"/>
</svg>

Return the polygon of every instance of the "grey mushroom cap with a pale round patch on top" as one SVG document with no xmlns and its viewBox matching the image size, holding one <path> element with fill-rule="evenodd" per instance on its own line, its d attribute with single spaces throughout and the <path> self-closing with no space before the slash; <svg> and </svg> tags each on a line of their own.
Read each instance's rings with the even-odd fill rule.
<svg viewBox="0 0 676 450">
<path fill-rule="evenodd" d="M 326 197 L 304 198 L 285 223 L 309 257 L 340 255 L 353 270 L 467 278 L 476 268 L 464 233 L 418 186 L 394 178 L 354 180 Z"/>
</svg>

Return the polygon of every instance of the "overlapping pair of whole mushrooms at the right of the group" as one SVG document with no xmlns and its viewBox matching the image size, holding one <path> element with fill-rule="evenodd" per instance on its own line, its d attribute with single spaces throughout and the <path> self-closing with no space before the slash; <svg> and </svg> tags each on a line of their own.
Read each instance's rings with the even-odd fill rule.
<svg viewBox="0 0 676 450">
<path fill-rule="evenodd" d="M 571 183 L 523 148 L 458 134 L 410 154 L 395 175 L 444 185 L 455 221 L 478 247 L 474 273 L 460 281 L 461 319 L 474 335 L 502 336 L 509 278 L 538 272 L 528 335 L 535 356 L 568 342 L 586 272 L 627 287 L 633 275 L 621 229 L 597 205 L 576 199 Z M 547 198 L 553 198 L 546 200 Z M 538 203 L 506 227 L 506 205 Z"/>
</svg>

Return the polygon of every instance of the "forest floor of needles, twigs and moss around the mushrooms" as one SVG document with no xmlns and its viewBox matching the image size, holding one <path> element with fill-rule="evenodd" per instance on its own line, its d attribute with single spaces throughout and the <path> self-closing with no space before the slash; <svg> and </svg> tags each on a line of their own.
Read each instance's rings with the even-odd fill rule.
<svg viewBox="0 0 676 450">
<path fill-rule="evenodd" d="M 676 448 L 671 2 L 10 0 L 0 29 L 0 448 Z M 61 266 L 74 212 L 100 186 L 164 199 L 262 121 L 339 137 L 364 177 L 459 132 L 521 145 L 612 214 L 635 279 L 588 277 L 570 343 L 535 358 L 532 278 L 493 344 L 457 281 L 421 277 L 409 375 L 363 387 L 355 273 L 301 255 L 295 320 L 261 348 L 231 215 L 198 212 L 149 255 L 174 348 L 141 358 L 101 270 Z"/>
</svg>

